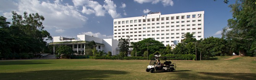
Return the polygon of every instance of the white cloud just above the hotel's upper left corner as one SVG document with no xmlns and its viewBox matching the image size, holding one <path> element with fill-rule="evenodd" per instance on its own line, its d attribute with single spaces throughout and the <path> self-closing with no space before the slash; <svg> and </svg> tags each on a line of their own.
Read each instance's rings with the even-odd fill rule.
<svg viewBox="0 0 256 80">
<path fill-rule="evenodd" d="M 106 11 L 108 11 L 108 14 L 113 19 L 122 18 L 121 14 L 116 12 L 116 4 L 114 4 L 113 1 L 105 0 L 104 2 L 105 2 L 105 4 L 103 5 L 103 7 L 106 9 Z"/>
</svg>

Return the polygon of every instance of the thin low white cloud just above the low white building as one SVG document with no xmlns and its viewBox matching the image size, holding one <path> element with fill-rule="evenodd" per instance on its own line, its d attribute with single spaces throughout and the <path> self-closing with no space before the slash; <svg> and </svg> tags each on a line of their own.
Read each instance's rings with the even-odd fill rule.
<svg viewBox="0 0 256 80">
<path fill-rule="evenodd" d="M 100 34 L 99 32 L 98 33 L 93 33 L 93 32 L 82 32 L 82 33 L 79 33 L 78 35 L 90 35 L 90 36 L 93 36 L 93 37 L 98 37 L 98 38 L 113 38 L 113 35 L 109 35 L 109 36 L 106 36 L 106 35 L 102 35 Z"/>
</svg>

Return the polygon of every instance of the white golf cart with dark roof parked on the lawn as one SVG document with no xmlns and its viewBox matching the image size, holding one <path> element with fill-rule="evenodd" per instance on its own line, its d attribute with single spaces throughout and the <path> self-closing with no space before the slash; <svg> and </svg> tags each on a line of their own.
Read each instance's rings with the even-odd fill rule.
<svg viewBox="0 0 256 80">
<path fill-rule="evenodd" d="M 155 71 L 169 71 L 173 72 L 176 70 L 176 64 L 172 63 L 171 61 L 166 61 L 167 58 L 174 58 L 174 57 L 153 57 L 146 69 L 147 72 L 154 73 Z M 160 66 L 157 66 L 158 59 L 161 59 Z M 163 62 L 165 60 L 165 62 Z M 161 63 L 163 62 L 163 63 Z"/>
</svg>

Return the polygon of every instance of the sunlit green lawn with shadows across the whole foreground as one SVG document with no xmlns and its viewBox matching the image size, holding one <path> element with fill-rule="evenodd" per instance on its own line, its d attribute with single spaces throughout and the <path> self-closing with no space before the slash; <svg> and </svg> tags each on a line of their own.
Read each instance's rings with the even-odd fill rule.
<svg viewBox="0 0 256 80">
<path fill-rule="evenodd" d="M 0 61 L 0 80 L 256 79 L 253 57 L 172 61 L 175 72 L 146 72 L 147 60 L 42 59 Z"/>
</svg>

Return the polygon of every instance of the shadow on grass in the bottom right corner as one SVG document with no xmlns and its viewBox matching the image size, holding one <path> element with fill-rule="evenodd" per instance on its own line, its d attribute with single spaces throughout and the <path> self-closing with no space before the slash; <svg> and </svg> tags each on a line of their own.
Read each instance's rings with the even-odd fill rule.
<svg viewBox="0 0 256 80">
<path fill-rule="evenodd" d="M 214 72 L 175 72 L 180 79 L 256 80 L 255 73 L 214 73 Z"/>
</svg>

